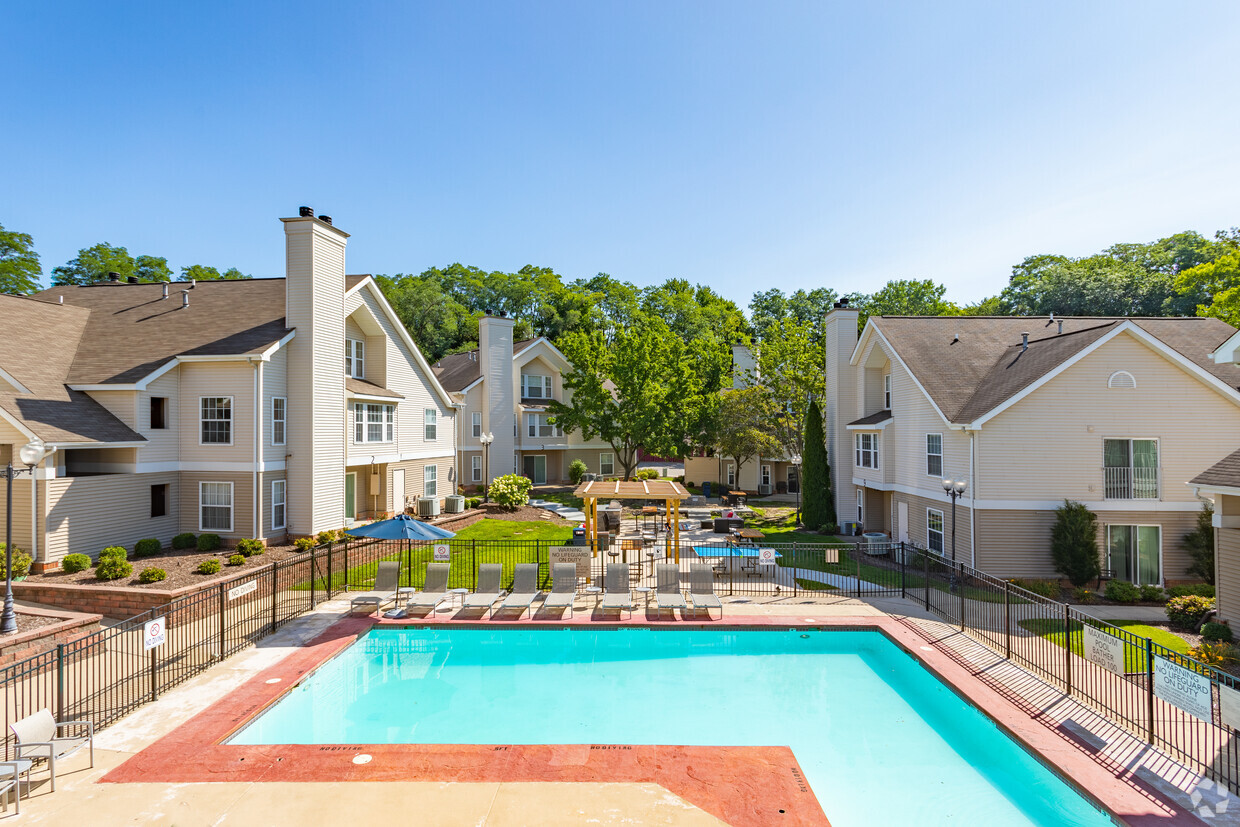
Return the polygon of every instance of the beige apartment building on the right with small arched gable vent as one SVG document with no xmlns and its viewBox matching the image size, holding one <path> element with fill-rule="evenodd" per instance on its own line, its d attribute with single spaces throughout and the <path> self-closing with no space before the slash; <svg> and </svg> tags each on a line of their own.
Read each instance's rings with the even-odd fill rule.
<svg viewBox="0 0 1240 827">
<path fill-rule="evenodd" d="M 1218 319 L 826 317 L 825 404 L 841 522 L 998 577 L 1055 577 L 1054 510 L 1099 517 L 1104 568 L 1188 578 L 1189 479 L 1240 444 L 1240 367 Z M 1202 429 L 1202 423 L 1210 423 Z M 965 482 L 952 503 L 942 480 Z"/>
</svg>

